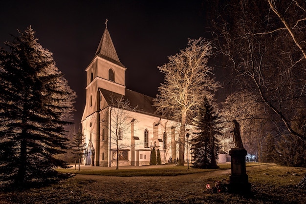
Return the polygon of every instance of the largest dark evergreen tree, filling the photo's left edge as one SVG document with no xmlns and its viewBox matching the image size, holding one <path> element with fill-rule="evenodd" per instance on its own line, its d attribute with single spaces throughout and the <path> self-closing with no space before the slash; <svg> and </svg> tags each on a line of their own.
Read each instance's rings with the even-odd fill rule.
<svg viewBox="0 0 306 204">
<path fill-rule="evenodd" d="M 25 186 L 64 176 L 55 155 L 65 153 L 65 127 L 76 98 L 52 53 L 33 29 L 0 48 L 0 184 Z"/>
</svg>

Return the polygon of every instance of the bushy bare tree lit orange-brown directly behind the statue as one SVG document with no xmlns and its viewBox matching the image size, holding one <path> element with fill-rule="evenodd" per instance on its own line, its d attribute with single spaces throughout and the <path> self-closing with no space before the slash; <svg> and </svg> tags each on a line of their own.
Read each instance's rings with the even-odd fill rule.
<svg viewBox="0 0 306 204">
<path fill-rule="evenodd" d="M 260 156 L 265 136 L 271 131 L 271 119 L 270 114 L 264 111 L 263 104 L 253 97 L 254 95 L 247 91 L 230 94 L 222 103 L 222 115 L 227 123 L 227 137 L 232 137 L 229 133 L 232 121 L 239 121 L 243 146 L 250 154 Z"/>
</svg>

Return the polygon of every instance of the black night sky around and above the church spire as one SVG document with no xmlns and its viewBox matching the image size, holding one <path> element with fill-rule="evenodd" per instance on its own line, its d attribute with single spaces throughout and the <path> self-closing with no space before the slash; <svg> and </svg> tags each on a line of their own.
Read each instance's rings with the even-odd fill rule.
<svg viewBox="0 0 306 204">
<path fill-rule="evenodd" d="M 127 68 L 127 88 L 155 96 L 163 82 L 157 66 L 188 38 L 205 37 L 202 0 L 10 0 L 0 1 L 0 46 L 29 25 L 53 53 L 57 67 L 77 93 L 75 123 L 85 106 L 85 69 L 93 59 L 105 20 Z"/>
</svg>

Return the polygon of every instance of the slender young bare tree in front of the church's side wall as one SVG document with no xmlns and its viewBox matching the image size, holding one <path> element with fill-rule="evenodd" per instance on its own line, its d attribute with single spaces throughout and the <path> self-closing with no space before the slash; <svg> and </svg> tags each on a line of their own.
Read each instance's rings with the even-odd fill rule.
<svg viewBox="0 0 306 204">
<path fill-rule="evenodd" d="M 136 110 L 137 107 L 131 107 L 130 102 L 124 99 L 124 96 L 109 97 L 110 106 L 110 121 L 109 124 L 102 123 L 110 130 L 111 135 L 110 143 L 116 146 L 116 169 L 119 169 L 119 150 L 127 147 L 131 147 L 131 143 L 127 143 L 131 138 L 127 138 L 125 135 L 131 130 L 131 113 Z"/>
</svg>

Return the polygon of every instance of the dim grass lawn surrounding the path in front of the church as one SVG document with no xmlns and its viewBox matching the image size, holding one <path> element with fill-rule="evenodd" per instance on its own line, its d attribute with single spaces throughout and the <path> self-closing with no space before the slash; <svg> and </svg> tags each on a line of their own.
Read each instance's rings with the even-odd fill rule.
<svg viewBox="0 0 306 204">
<path fill-rule="evenodd" d="M 192 169 L 187 170 L 187 166 L 183 167 L 168 167 L 167 165 L 161 168 L 146 168 L 146 169 L 119 169 L 119 170 L 82 170 L 75 171 L 73 169 L 59 169 L 61 172 L 79 173 L 79 174 L 94 174 L 104 175 L 114 181 L 120 180 L 121 177 L 137 178 L 137 176 L 145 176 L 153 178 L 157 176 L 162 178 L 168 176 L 170 178 L 189 179 L 203 175 L 203 172 L 214 172 L 217 176 L 208 176 L 203 180 L 203 185 L 206 182 L 214 184 L 215 181 L 221 180 L 228 175 L 218 175 L 224 169 L 230 169 L 230 164 L 220 164 L 219 169 Z M 251 183 L 251 194 L 239 195 L 230 193 L 210 193 L 205 189 L 194 198 L 192 195 L 188 197 L 175 196 L 170 199 L 141 200 L 132 198 L 130 200 L 109 199 L 98 194 L 92 194 L 87 190 L 88 185 L 97 184 L 97 181 L 91 179 L 68 179 L 58 184 L 51 184 L 41 188 L 32 188 L 18 192 L 2 192 L 0 193 L 0 204 L 117 204 L 117 203 L 145 203 L 145 204 L 304 204 L 306 203 L 306 190 L 298 189 L 296 184 L 306 175 L 306 168 L 301 167 L 283 167 L 272 163 L 261 164 L 247 163 L 247 174 Z M 180 177 L 183 175 L 183 177 Z M 210 175 L 210 174 L 207 174 Z M 110 176 L 110 177 L 109 177 Z M 173 177 L 174 176 L 174 177 Z M 103 177 L 104 178 L 104 177 Z M 166 177 L 165 177 L 166 178 Z M 135 182 L 137 183 L 137 182 Z M 187 183 L 186 183 L 187 184 Z M 118 183 L 125 188 L 125 183 Z M 177 184 L 178 193 L 184 193 L 184 181 L 182 184 Z M 143 188 L 139 187 L 139 188 Z M 196 187 L 196 186 L 195 186 Z M 119 188 L 120 189 L 120 188 Z M 102 189 L 101 189 L 102 190 Z M 205 190 L 205 191 L 204 191 Z M 152 191 L 153 192 L 153 191 Z M 123 199 L 123 197 L 122 197 Z"/>
</svg>

